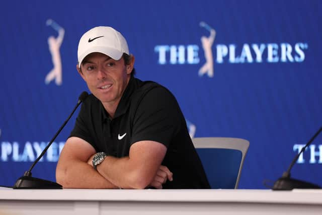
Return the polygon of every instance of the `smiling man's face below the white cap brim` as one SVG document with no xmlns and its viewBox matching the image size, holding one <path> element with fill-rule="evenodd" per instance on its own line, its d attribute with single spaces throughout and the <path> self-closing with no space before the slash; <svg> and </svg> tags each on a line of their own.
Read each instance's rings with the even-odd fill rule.
<svg viewBox="0 0 322 215">
<path fill-rule="evenodd" d="M 133 57 L 132 57 L 133 58 Z M 102 53 L 91 53 L 84 60 L 78 73 L 88 88 L 103 105 L 117 107 L 130 80 L 134 59 L 125 65 L 123 57 L 114 60 Z"/>
</svg>

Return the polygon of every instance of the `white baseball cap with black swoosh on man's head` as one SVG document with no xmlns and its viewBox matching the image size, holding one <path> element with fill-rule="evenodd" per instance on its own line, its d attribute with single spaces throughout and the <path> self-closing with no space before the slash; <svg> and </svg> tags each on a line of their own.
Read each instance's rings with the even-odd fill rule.
<svg viewBox="0 0 322 215">
<path fill-rule="evenodd" d="M 127 42 L 122 34 L 112 27 L 99 26 L 86 32 L 78 43 L 78 67 L 84 58 L 93 52 L 100 52 L 119 60 L 123 53 L 129 54 Z"/>
</svg>

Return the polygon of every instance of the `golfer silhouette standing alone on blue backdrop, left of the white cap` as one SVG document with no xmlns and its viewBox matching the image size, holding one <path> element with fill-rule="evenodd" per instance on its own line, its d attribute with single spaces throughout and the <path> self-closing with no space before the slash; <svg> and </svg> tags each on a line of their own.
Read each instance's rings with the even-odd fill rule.
<svg viewBox="0 0 322 215">
<path fill-rule="evenodd" d="M 51 53 L 51 59 L 54 67 L 49 71 L 45 78 L 45 84 L 49 84 L 55 80 L 56 85 L 62 84 L 62 70 L 61 70 L 61 58 L 60 58 L 60 46 L 64 38 L 65 30 L 60 27 L 55 21 L 49 19 L 46 22 L 47 26 L 51 26 L 58 32 L 58 36 L 50 36 L 48 38 L 49 51 Z"/>
</svg>

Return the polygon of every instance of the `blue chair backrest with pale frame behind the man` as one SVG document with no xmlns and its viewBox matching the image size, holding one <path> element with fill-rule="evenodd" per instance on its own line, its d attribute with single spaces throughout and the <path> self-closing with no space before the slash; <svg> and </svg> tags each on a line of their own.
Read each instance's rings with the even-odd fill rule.
<svg viewBox="0 0 322 215">
<path fill-rule="evenodd" d="M 193 144 L 212 189 L 237 189 L 250 142 L 232 137 L 195 137 Z"/>
</svg>

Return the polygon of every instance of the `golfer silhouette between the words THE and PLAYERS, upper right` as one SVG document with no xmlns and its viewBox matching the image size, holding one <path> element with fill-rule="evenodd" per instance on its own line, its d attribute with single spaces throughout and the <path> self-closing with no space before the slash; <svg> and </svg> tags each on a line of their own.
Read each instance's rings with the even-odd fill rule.
<svg viewBox="0 0 322 215">
<path fill-rule="evenodd" d="M 205 53 L 206 62 L 205 64 L 199 69 L 198 75 L 201 77 L 204 74 L 207 74 L 209 78 L 213 77 L 213 57 L 212 57 L 212 50 L 211 46 L 213 44 L 213 41 L 215 40 L 216 31 L 211 28 L 209 25 L 207 25 L 205 22 L 200 22 L 200 27 L 205 28 L 210 32 L 209 37 L 202 36 L 201 37 L 201 43 L 202 48 Z"/>
</svg>

